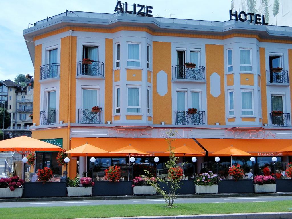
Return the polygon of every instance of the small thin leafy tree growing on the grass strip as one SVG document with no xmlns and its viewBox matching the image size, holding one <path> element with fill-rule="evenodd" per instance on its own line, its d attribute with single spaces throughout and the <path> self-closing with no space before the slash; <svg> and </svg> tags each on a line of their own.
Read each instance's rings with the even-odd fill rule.
<svg viewBox="0 0 292 219">
<path fill-rule="evenodd" d="M 157 193 L 162 195 L 164 201 L 169 207 L 173 207 L 174 200 L 178 195 L 176 191 L 180 188 L 180 178 L 182 176 L 182 169 L 176 164 L 178 157 L 175 157 L 173 153 L 174 148 L 171 146 L 171 142 L 175 140 L 172 138 L 175 136 L 175 134 L 176 133 L 172 130 L 166 132 L 166 135 L 169 138 L 165 138 L 165 140 L 167 141 L 168 150 L 170 152 L 169 161 L 167 161 L 165 164 L 166 168 L 168 169 L 168 176 L 165 178 L 156 177 L 156 180 L 149 180 L 153 178 L 153 175 L 147 170 L 144 171 L 145 175 L 142 175 L 142 178 L 147 182 L 147 184 L 152 185 L 156 189 Z M 163 190 L 164 187 L 160 187 L 158 182 L 166 184 L 169 192 L 167 193 L 165 190 Z"/>
</svg>

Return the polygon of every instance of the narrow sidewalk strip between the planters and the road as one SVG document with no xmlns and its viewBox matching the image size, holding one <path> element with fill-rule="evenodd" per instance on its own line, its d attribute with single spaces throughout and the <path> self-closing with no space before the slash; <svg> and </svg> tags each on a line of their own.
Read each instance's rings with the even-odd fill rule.
<svg viewBox="0 0 292 219">
<path fill-rule="evenodd" d="M 228 197 L 274 197 L 274 196 L 292 196 L 292 192 L 262 193 L 262 194 L 206 194 L 206 195 L 178 195 L 177 198 L 228 198 Z M 77 201 L 77 200 L 123 200 L 123 199 L 161 199 L 161 195 L 145 196 L 93 196 L 93 197 L 49 197 L 49 198 L 16 198 L 0 199 L 1 202 L 24 202 L 24 201 Z M 292 216 L 291 218 L 292 219 Z"/>
</svg>

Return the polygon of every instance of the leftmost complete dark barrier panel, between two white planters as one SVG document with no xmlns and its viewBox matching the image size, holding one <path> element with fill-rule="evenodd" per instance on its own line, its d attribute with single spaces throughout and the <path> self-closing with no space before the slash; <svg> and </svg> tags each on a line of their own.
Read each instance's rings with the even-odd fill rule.
<svg viewBox="0 0 292 219">
<path fill-rule="evenodd" d="M 47 182 L 47 183 L 25 183 L 23 190 L 24 198 L 41 197 L 66 197 L 66 183 Z"/>
</svg>

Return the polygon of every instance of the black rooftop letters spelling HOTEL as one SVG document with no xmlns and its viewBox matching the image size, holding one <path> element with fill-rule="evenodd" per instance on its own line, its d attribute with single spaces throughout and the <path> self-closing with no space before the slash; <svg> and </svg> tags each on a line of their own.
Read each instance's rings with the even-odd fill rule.
<svg viewBox="0 0 292 219">
<path fill-rule="evenodd" d="M 245 13 L 244 11 L 241 11 L 239 13 L 237 13 L 237 11 L 234 11 L 234 13 L 232 13 L 232 10 L 229 10 L 230 20 L 232 20 L 233 17 L 235 18 L 235 20 L 240 20 L 242 22 L 249 20 L 250 23 L 254 21 L 255 24 L 269 25 L 268 23 L 265 22 L 265 15 L 261 15 L 261 14 L 254 14 L 250 12 Z M 263 22 L 261 22 L 261 20 Z"/>
</svg>

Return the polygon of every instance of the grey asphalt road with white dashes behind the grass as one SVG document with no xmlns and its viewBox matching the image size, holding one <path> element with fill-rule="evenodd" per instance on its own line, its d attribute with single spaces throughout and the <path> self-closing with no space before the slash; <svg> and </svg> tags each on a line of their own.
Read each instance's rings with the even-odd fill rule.
<svg viewBox="0 0 292 219">
<path fill-rule="evenodd" d="M 193 198 L 175 199 L 175 203 L 226 203 L 226 202 L 263 202 L 292 200 L 292 196 L 274 197 L 230 197 L 230 198 Z M 163 204 L 163 199 L 128 199 L 128 200 L 86 200 L 86 201 L 35 201 L 35 202 L 3 202 L 0 208 L 14 207 L 50 207 L 50 206 L 84 206 L 84 205 L 117 205 L 117 204 Z"/>
</svg>

